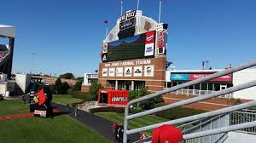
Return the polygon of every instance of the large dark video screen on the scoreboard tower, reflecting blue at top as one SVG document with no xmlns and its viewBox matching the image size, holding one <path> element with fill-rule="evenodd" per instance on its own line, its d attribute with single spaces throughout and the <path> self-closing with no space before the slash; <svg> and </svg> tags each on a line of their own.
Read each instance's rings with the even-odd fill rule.
<svg viewBox="0 0 256 143">
<path fill-rule="evenodd" d="M 145 34 L 108 43 L 107 60 L 132 60 L 144 58 Z"/>
</svg>

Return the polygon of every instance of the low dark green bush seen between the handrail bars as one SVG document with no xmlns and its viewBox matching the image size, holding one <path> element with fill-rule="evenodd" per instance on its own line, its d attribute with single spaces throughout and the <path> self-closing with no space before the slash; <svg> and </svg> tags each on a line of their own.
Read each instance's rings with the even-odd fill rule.
<svg viewBox="0 0 256 143">
<path fill-rule="evenodd" d="M 161 103 L 161 104 L 157 104 L 155 106 L 156 107 L 164 106 L 164 104 Z M 177 108 L 168 109 L 163 112 L 156 112 L 156 113 L 154 113 L 154 115 L 156 115 L 158 117 L 165 117 L 167 119 L 174 120 L 177 118 L 189 117 L 189 116 L 200 114 L 203 112 L 207 112 L 207 111 L 181 106 L 181 107 L 177 107 Z"/>
</svg>

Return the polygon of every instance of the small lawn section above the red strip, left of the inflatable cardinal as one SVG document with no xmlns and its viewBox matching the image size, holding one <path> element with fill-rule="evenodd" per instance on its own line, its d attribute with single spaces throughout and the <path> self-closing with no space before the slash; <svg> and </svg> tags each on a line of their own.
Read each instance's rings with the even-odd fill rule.
<svg viewBox="0 0 256 143">
<path fill-rule="evenodd" d="M 0 100 L 0 116 L 26 112 L 29 112 L 29 105 L 22 100 Z"/>
</svg>

